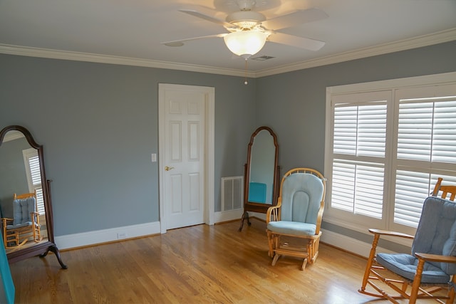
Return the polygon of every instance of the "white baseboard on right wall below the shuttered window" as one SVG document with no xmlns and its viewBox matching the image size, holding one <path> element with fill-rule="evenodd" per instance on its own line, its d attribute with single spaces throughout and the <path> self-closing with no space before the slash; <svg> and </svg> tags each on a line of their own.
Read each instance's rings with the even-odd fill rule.
<svg viewBox="0 0 456 304">
<path fill-rule="evenodd" d="M 323 230 L 321 234 L 321 241 L 323 243 L 327 243 L 331 246 L 335 246 L 337 248 L 341 248 L 345 251 L 352 252 L 358 254 L 358 256 L 368 257 L 369 253 L 371 252 L 371 243 L 364 243 L 363 241 L 358 241 L 357 239 L 352 239 L 348 236 L 344 236 L 343 234 L 336 234 L 333 231 Z M 393 253 L 393 251 L 389 251 L 385 248 L 378 247 L 377 251 L 381 251 L 384 253 Z"/>
</svg>

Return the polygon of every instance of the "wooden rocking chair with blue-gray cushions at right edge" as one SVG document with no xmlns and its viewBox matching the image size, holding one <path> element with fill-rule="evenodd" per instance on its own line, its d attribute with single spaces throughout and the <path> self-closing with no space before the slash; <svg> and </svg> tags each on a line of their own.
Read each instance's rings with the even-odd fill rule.
<svg viewBox="0 0 456 304">
<path fill-rule="evenodd" d="M 439 178 L 423 203 L 415 236 L 369 229 L 374 235 L 360 293 L 399 303 L 433 299 L 453 303 L 456 286 L 456 186 Z M 438 193 L 442 197 L 437 197 Z M 450 194 L 450 199 L 447 199 Z M 413 239 L 407 253 L 376 253 L 380 236 Z M 444 302 L 445 300 L 445 302 Z M 400 302 L 403 303 L 403 302 Z"/>
</svg>

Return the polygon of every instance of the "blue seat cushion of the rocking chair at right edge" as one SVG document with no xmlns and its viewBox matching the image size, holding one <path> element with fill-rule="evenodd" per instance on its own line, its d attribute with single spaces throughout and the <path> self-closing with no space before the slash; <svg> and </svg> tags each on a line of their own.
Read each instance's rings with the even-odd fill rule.
<svg viewBox="0 0 456 304">
<path fill-rule="evenodd" d="M 410 281 L 413 281 L 413 278 L 415 278 L 418 258 L 410 256 L 410 254 L 377 253 L 375 259 L 381 266 L 404 278 L 408 278 Z M 423 275 L 421 276 L 421 283 L 445 284 L 449 281 L 450 276 L 443 272 L 442 269 L 437 268 L 430 263 L 425 263 Z"/>
</svg>

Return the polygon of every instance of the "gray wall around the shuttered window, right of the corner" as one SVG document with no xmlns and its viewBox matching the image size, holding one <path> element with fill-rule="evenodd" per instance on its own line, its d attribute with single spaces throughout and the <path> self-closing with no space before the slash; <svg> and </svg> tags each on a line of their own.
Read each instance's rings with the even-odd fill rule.
<svg viewBox="0 0 456 304">
<path fill-rule="evenodd" d="M 257 79 L 257 124 L 275 130 L 282 174 L 323 173 L 326 87 L 456 71 L 456 41 Z M 456 79 L 455 79 L 456 80 Z M 322 228 L 371 243 L 372 236 L 324 222 Z M 403 248 L 382 243 L 385 248 Z"/>
</svg>

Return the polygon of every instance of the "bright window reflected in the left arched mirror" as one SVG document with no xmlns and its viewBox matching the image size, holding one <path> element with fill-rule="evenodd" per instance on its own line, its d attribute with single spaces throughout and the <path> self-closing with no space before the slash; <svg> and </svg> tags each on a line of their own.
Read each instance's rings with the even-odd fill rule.
<svg viewBox="0 0 456 304">
<path fill-rule="evenodd" d="M 40 159 L 36 149 L 30 148 L 22 152 L 24 154 L 24 163 L 26 165 L 26 174 L 28 189 L 30 192 L 36 190 L 36 201 L 38 204 L 38 213 L 45 214 L 43 200 L 43 186 L 41 184 Z"/>
</svg>

